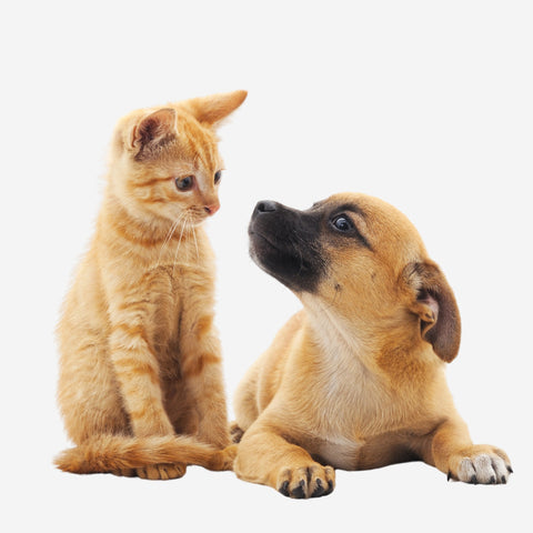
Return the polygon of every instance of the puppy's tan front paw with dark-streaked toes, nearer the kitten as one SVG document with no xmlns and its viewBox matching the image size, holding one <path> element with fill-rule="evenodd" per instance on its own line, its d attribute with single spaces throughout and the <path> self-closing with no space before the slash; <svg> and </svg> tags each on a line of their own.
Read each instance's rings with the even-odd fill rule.
<svg viewBox="0 0 533 533">
<path fill-rule="evenodd" d="M 335 471 L 332 466 L 311 463 L 309 466 L 281 469 L 275 487 L 289 497 L 319 497 L 333 492 Z"/>
</svg>

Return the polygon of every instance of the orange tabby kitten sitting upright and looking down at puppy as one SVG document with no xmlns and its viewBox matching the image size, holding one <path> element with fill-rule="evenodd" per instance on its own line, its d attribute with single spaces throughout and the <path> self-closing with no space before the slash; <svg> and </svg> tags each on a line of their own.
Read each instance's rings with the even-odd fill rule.
<svg viewBox="0 0 533 533">
<path fill-rule="evenodd" d="M 117 127 L 95 234 L 58 326 L 58 398 L 77 444 L 61 470 L 170 479 L 187 464 L 231 467 L 201 223 L 219 209 L 214 129 L 245 97 L 143 109 Z"/>
</svg>

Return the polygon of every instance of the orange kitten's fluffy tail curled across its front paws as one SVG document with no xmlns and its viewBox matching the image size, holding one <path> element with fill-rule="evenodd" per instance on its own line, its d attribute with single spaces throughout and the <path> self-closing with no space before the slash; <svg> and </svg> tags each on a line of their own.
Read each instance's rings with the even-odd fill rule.
<svg viewBox="0 0 533 533">
<path fill-rule="evenodd" d="M 192 436 L 98 435 L 61 452 L 56 466 L 64 472 L 92 474 L 155 464 L 195 464 L 209 470 L 232 470 L 235 446 L 215 450 Z"/>
</svg>

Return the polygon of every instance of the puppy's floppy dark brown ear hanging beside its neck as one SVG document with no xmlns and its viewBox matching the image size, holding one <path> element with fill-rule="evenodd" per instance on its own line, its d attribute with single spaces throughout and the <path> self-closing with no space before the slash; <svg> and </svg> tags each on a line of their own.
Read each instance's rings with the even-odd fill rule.
<svg viewBox="0 0 533 533">
<path fill-rule="evenodd" d="M 411 263 L 404 274 L 413 290 L 409 309 L 420 318 L 422 339 L 443 361 L 453 361 L 461 342 L 461 318 L 444 274 L 431 261 Z"/>
</svg>

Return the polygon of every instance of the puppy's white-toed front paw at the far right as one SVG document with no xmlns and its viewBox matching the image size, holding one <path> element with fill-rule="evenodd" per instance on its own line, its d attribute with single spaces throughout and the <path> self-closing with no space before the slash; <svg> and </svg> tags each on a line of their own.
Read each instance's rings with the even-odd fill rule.
<svg viewBox="0 0 533 533">
<path fill-rule="evenodd" d="M 477 445 L 452 455 L 447 479 L 472 484 L 506 483 L 513 472 L 505 452 L 494 446 Z"/>
</svg>

